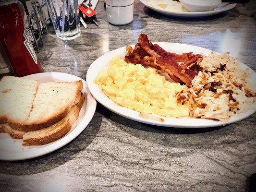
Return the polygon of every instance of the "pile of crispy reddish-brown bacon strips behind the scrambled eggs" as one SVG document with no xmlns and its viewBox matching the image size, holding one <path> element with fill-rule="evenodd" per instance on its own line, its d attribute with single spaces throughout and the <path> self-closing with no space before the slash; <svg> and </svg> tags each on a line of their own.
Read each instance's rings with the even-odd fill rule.
<svg viewBox="0 0 256 192">
<path fill-rule="evenodd" d="M 191 84 L 200 68 L 191 69 L 196 65 L 196 61 L 202 58 L 201 55 L 194 55 L 192 52 L 181 55 L 167 52 L 157 44 L 153 45 L 149 42 L 146 34 L 141 34 L 138 42 L 134 49 L 127 46 L 128 55 L 124 59 L 126 62 L 161 69 L 167 72 L 175 82 Z M 177 62 L 184 63 L 180 66 Z"/>
</svg>

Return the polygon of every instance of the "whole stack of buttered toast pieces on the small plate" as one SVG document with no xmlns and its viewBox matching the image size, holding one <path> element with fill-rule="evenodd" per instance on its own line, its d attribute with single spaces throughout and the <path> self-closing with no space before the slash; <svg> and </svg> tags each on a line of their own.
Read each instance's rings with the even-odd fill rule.
<svg viewBox="0 0 256 192">
<path fill-rule="evenodd" d="M 82 81 L 38 84 L 30 79 L 3 77 L 0 132 L 23 139 L 23 145 L 42 145 L 60 139 L 79 116 L 85 101 L 82 89 Z"/>
</svg>

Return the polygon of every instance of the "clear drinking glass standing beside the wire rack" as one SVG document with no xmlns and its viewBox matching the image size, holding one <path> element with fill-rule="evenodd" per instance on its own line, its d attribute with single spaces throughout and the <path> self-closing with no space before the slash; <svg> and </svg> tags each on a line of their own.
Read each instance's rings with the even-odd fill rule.
<svg viewBox="0 0 256 192">
<path fill-rule="evenodd" d="M 61 39 L 80 36 L 77 0 L 46 0 L 56 35 Z"/>
</svg>

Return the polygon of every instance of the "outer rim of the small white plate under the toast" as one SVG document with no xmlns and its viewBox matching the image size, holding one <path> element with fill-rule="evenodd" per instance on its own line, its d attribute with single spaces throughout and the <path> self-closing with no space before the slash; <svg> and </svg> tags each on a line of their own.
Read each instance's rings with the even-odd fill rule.
<svg viewBox="0 0 256 192">
<path fill-rule="evenodd" d="M 2 160 L 2 161 L 20 161 L 20 160 L 32 159 L 32 158 L 35 158 L 38 156 L 43 156 L 43 155 L 49 154 L 53 151 L 56 151 L 57 149 L 60 149 L 61 147 L 65 146 L 66 144 L 69 144 L 79 134 L 81 134 L 81 132 L 83 132 L 85 130 L 85 128 L 88 126 L 88 124 L 90 123 L 90 121 L 92 120 L 92 118 L 95 114 L 97 102 L 96 102 L 95 98 L 91 95 L 89 88 L 88 88 L 88 84 L 84 79 L 77 77 L 73 74 L 64 73 L 64 72 L 41 72 L 41 73 L 26 75 L 26 76 L 24 76 L 24 78 L 29 78 L 32 76 L 36 77 L 37 75 L 42 75 L 42 74 L 43 75 L 50 75 L 50 74 L 67 75 L 70 77 L 72 76 L 73 78 L 77 78 L 77 80 L 81 80 L 83 82 L 83 85 L 84 85 L 83 89 L 85 89 L 84 93 L 86 92 L 86 94 L 87 94 L 87 97 L 86 97 L 87 105 L 85 108 L 84 117 L 80 120 L 80 122 L 76 125 L 76 127 L 71 132 L 67 133 L 59 140 L 52 142 L 45 147 L 43 147 L 44 145 L 40 145 L 40 146 L 42 146 L 42 148 L 36 148 L 36 149 L 33 149 L 32 151 L 27 150 L 25 152 L 23 152 L 23 151 L 8 152 L 8 151 L 0 150 L 0 154 L 1 154 L 0 160 Z M 61 78 L 58 78 L 58 79 L 60 79 L 61 81 L 67 80 L 67 79 L 61 79 Z M 88 105 L 88 101 L 90 101 L 91 105 Z M 80 127 L 80 129 L 76 129 L 78 126 Z"/>
</svg>

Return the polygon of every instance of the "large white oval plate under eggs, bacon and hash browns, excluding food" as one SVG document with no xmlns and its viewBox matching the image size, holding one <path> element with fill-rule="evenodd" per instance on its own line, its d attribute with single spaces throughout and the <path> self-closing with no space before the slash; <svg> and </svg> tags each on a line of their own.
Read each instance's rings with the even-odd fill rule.
<svg viewBox="0 0 256 192">
<path fill-rule="evenodd" d="M 206 48 L 200 48 L 200 47 L 186 45 L 186 44 L 179 44 L 179 43 L 157 43 L 157 44 L 169 52 L 174 52 L 178 54 L 185 53 L 185 52 L 193 52 L 194 54 L 203 53 L 207 56 L 207 55 L 210 55 L 210 53 L 212 52 L 211 50 Z M 134 45 L 132 47 L 134 48 Z M 87 71 L 86 82 L 88 84 L 88 88 L 91 94 L 99 103 L 101 103 L 106 108 L 110 109 L 111 111 L 123 117 L 126 117 L 131 120 L 136 120 L 142 123 L 164 126 L 164 127 L 204 128 L 204 127 L 216 127 L 220 125 L 230 124 L 232 122 L 236 122 L 239 120 L 243 120 L 244 118 L 248 117 L 249 115 L 255 112 L 253 110 L 249 110 L 246 113 L 241 113 L 240 115 L 230 118 L 230 120 L 226 122 L 216 121 L 216 120 L 206 120 L 206 119 L 195 119 L 190 117 L 183 117 L 183 118 L 161 117 L 164 119 L 164 122 L 160 122 L 157 120 L 146 120 L 139 116 L 139 112 L 129 108 L 124 108 L 116 104 L 112 100 L 110 100 L 110 98 L 106 96 L 102 90 L 99 89 L 98 85 L 94 83 L 94 79 L 98 76 L 98 73 L 103 69 L 109 69 L 110 60 L 117 55 L 119 55 L 120 58 L 124 58 L 124 56 L 126 55 L 125 47 L 112 50 L 106 53 L 105 55 L 102 55 L 97 60 L 95 60 Z M 242 68 L 246 69 L 248 67 L 242 64 Z M 255 72 L 253 70 L 250 69 L 250 72 L 253 72 L 254 77 L 256 77 Z"/>
</svg>

